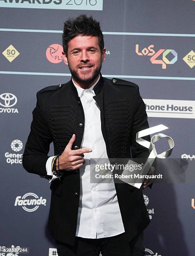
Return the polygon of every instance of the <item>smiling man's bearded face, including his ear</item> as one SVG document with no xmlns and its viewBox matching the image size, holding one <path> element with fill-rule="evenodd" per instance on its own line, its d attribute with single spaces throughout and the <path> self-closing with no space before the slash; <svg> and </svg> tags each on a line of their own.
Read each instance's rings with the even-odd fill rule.
<svg viewBox="0 0 195 256">
<path fill-rule="evenodd" d="M 68 56 L 64 62 L 68 65 L 73 80 L 80 86 L 92 85 L 99 76 L 101 64 L 105 60 L 97 36 L 76 36 L 68 42 Z"/>
</svg>

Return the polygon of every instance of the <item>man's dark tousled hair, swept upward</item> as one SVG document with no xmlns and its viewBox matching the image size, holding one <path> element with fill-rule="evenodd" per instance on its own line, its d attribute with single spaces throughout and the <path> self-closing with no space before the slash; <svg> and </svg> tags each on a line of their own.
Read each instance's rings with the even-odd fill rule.
<svg viewBox="0 0 195 256">
<path fill-rule="evenodd" d="M 104 49 L 104 36 L 102 34 L 100 24 L 94 20 L 92 16 L 87 17 L 81 14 L 76 18 L 68 18 L 64 22 L 62 43 L 63 51 L 66 56 L 68 54 L 68 42 L 76 36 L 97 36 L 101 52 Z"/>
</svg>

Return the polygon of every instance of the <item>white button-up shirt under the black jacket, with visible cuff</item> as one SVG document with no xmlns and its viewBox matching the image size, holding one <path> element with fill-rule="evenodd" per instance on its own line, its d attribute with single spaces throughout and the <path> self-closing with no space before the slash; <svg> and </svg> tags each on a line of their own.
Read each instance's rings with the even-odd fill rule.
<svg viewBox="0 0 195 256">
<path fill-rule="evenodd" d="M 108 158 L 101 132 L 100 109 L 93 98 L 97 82 L 99 79 L 89 89 L 83 89 L 73 82 L 85 115 L 81 148 L 92 149 L 92 152 L 84 154 L 84 164 L 79 168 L 81 191 L 76 236 L 83 238 L 104 238 L 124 233 L 114 183 L 90 183 L 90 159 Z M 52 159 L 53 156 L 46 163 L 48 175 L 52 175 Z M 53 175 L 52 180 L 56 178 Z"/>
</svg>

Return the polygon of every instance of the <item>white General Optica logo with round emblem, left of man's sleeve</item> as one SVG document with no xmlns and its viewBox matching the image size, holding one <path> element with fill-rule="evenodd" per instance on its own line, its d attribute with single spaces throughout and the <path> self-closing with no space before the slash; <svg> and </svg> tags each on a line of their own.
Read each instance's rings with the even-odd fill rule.
<svg viewBox="0 0 195 256">
<path fill-rule="evenodd" d="M 20 140 L 13 140 L 11 143 L 11 149 L 15 152 L 22 150 L 23 143 Z M 6 162 L 8 164 L 22 164 L 23 154 L 13 154 L 5 152 Z"/>
</svg>

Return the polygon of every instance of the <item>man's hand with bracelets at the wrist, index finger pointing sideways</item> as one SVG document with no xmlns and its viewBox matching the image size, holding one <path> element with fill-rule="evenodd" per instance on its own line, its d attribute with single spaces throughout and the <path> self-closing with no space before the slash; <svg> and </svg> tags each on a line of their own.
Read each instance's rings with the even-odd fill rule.
<svg viewBox="0 0 195 256">
<path fill-rule="evenodd" d="M 68 142 L 66 148 L 64 149 L 61 156 L 59 156 L 59 166 L 58 161 L 56 162 L 57 170 L 76 170 L 83 165 L 84 153 L 89 153 L 92 151 L 91 148 L 80 148 L 72 150 L 73 143 L 76 139 L 76 135 L 73 134 L 72 138 Z"/>
</svg>

